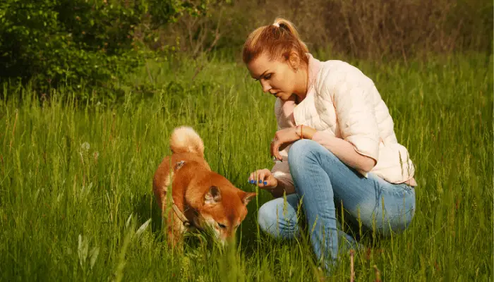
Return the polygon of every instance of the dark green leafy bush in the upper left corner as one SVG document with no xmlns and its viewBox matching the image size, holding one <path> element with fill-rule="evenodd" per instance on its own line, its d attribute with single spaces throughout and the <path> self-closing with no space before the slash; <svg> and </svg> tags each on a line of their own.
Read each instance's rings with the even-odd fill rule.
<svg viewBox="0 0 494 282">
<path fill-rule="evenodd" d="M 202 6 L 176 0 L 1 1 L 0 78 L 32 80 L 41 89 L 60 82 L 104 85 L 144 61 L 152 30 Z"/>
</svg>

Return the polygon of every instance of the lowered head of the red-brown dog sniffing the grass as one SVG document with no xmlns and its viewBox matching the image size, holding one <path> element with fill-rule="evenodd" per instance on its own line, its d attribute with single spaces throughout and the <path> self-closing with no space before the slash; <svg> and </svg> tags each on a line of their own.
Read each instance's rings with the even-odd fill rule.
<svg viewBox="0 0 494 282">
<path fill-rule="evenodd" d="M 233 186 L 219 188 L 212 185 L 202 197 L 195 225 L 212 231 L 220 243 L 233 238 L 236 229 L 247 215 L 247 204 L 255 192 L 245 192 Z"/>
</svg>

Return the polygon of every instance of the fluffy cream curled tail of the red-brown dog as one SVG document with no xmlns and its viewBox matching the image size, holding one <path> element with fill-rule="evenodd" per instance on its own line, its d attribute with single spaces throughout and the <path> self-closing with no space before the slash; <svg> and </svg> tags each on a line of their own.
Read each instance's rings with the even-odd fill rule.
<svg viewBox="0 0 494 282">
<path fill-rule="evenodd" d="M 204 157 L 204 143 L 198 133 L 188 126 L 175 128 L 170 137 L 171 152 L 192 153 Z"/>
</svg>

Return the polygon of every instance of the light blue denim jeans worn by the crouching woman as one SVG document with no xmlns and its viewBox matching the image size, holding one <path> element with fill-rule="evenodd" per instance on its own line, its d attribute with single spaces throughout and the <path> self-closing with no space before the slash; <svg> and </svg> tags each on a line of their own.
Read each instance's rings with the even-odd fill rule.
<svg viewBox="0 0 494 282">
<path fill-rule="evenodd" d="M 288 162 L 296 193 L 287 195 L 286 203 L 281 197 L 263 204 L 258 223 L 276 238 L 295 238 L 300 235 L 301 203 L 313 250 L 326 268 L 335 264 L 339 243 L 359 247 L 340 228 L 339 205 L 354 226 L 361 223 L 361 230 L 384 236 L 403 231 L 414 217 L 414 188 L 388 183 L 373 173 L 365 178 L 313 140 L 291 145 Z"/>
</svg>

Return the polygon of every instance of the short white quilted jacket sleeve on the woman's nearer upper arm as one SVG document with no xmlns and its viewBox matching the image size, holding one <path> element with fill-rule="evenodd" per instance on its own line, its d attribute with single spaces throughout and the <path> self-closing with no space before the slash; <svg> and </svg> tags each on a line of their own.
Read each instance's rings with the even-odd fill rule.
<svg viewBox="0 0 494 282">
<path fill-rule="evenodd" d="M 335 106 L 342 138 L 356 152 L 379 159 L 379 128 L 375 117 L 372 80 L 348 63 L 339 63 L 321 72 L 318 94 Z"/>
</svg>

